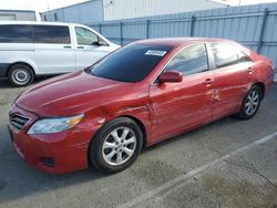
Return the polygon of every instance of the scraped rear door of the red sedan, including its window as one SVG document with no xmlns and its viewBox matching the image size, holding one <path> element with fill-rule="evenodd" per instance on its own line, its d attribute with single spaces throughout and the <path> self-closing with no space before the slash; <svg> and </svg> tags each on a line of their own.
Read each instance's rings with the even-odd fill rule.
<svg viewBox="0 0 277 208">
<path fill-rule="evenodd" d="M 213 116 L 222 117 L 239 110 L 252 83 L 254 62 L 233 43 L 211 43 L 215 63 Z"/>
</svg>

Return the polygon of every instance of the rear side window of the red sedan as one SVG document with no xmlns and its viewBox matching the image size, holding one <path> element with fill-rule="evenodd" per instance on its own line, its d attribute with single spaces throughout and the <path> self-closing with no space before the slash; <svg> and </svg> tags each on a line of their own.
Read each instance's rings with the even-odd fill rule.
<svg viewBox="0 0 277 208">
<path fill-rule="evenodd" d="M 211 44 L 216 67 L 223 67 L 240 62 L 250 61 L 249 58 L 230 43 Z"/>
</svg>

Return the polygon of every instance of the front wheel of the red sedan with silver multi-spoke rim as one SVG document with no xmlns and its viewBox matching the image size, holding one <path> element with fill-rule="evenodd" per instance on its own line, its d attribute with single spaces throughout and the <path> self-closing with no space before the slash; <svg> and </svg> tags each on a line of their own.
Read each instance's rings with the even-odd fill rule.
<svg viewBox="0 0 277 208">
<path fill-rule="evenodd" d="M 100 171 L 114 174 L 131 166 L 141 153 L 143 134 L 131 118 L 106 123 L 93 138 L 89 159 Z"/>
</svg>

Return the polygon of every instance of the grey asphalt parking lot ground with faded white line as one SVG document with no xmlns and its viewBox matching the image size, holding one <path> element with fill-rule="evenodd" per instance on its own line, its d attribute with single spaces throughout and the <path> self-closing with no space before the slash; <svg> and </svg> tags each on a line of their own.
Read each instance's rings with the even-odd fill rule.
<svg viewBox="0 0 277 208">
<path fill-rule="evenodd" d="M 277 207 L 277 85 L 250 121 L 227 117 L 142 153 L 123 173 L 45 175 L 16 153 L 0 81 L 0 207 Z"/>
</svg>

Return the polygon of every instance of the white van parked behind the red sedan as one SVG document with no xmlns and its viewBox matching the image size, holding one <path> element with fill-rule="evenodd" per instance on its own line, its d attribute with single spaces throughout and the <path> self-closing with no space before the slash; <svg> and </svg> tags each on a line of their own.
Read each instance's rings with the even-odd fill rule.
<svg viewBox="0 0 277 208">
<path fill-rule="evenodd" d="M 84 69 L 120 48 L 82 24 L 0 22 L 0 77 L 14 86 L 34 76 Z"/>
</svg>

